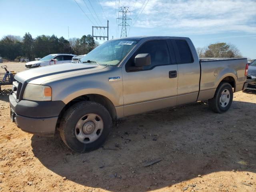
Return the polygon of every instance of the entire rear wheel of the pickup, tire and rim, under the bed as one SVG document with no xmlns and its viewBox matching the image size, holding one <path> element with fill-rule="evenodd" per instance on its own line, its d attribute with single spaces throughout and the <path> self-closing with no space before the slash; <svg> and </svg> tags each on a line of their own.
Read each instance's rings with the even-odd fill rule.
<svg viewBox="0 0 256 192">
<path fill-rule="evenodd" d="M 232 86 L 229 83 L 221 82 L 216 89 L 214 98 L 208 100 L 208 105 L 212 111 L 216 113 L 224 113 L 230 108 L 232 101 Z"/>
</svg>

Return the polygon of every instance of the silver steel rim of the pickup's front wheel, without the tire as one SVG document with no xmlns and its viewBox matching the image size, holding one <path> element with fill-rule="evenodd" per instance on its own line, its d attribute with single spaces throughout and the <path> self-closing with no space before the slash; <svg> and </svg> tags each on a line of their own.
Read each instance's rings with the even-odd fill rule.
<svg viewBox="0 0 256 192">
<path fill-rule="evenodd" d="M 76 123 L 75 136 L 80 142 L 88 144 L 100 137 L 103 127 L 103 120 L 99 115 L 86 114 Z"/>
</svg>

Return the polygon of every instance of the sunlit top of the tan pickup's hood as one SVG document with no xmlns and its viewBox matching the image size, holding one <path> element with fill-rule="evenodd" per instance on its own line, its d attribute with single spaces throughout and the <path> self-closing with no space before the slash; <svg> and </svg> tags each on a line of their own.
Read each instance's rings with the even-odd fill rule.
<svg viewBox="0 0 256 192">
<path fill-rule="evenodd" d="M 78 73 L 85 73 L 94 70 L 100 70 L 106 66 L 98 66 L 94 64 L 82 63 L 64 63 L 61 65 L 50 65 L 45 67 L 38 67 L 25 70 L 15 75 L 15 79 L 20 82 L 27 82 L 31 84 L 42 84 L 43 82 L 60 78 L 63 76 L 72 76 Z"/>
</svg>

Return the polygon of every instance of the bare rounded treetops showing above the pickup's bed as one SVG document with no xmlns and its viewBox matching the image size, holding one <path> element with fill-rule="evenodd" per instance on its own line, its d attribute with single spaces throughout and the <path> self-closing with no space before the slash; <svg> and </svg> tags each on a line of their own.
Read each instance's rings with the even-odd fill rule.
<svg viewBox="0 0 256 192">
<path fill-rule="evenodd" d="M 199 58 L 238 58 L 242 57 L 242 54 L 232 44 L 225 42 L 218 42 L 210 44 L 207 47 L 196 48 L 196 52 Z"/>
</svg>

